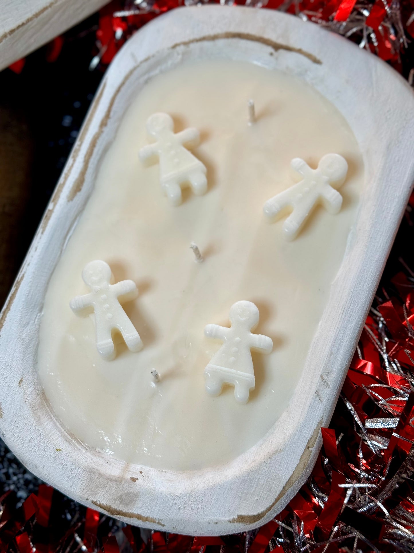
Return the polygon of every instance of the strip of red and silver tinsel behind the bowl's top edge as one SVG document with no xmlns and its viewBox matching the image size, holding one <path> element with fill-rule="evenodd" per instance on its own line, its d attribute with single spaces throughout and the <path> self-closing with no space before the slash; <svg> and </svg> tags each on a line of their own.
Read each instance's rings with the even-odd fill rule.
<svg viewBox="0 0 414 553">
<path fill-rule="evenodd" d="M 266 7 L 298 15 L 346 36 L 389 61 L 395 69 L 412 69 L 410 59 L 402 67 L 404 54 L 414 36 L 413 0 L 114 0 L 100 12 L 97 31 L 98 54 L 92 67 L 109 64 L 125 40 L 157 15 L 178 6 L 220 3 Z M 410 80 L 412 75 L 410 76 Z"/>
</svg>

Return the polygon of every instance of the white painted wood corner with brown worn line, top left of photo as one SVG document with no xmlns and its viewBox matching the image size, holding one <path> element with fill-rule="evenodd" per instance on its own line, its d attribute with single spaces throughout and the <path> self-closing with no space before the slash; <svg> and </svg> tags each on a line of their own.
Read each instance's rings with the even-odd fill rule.
<svg viewBox="0 0 414 553">
<path fill-rule="evenodd" d="M 0 0 L 0 70 L 96 12 L 109 0 Z"/>
</svg>

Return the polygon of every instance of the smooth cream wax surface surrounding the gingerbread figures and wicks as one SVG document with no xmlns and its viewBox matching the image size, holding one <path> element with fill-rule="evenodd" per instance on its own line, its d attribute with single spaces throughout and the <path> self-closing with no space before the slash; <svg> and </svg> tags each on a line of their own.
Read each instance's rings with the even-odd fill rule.
<svg viewBox="0 0 414 553">
<path fill-rule="evenodd" d="M 193 151 L 207 168 L 208 192 L 185 189 L 178 207 L 162 195 L 158 165 L 138 157 L 147 118 L 160 111 L 171 114 L 174 131 L 201 134 Z M 348 162 L 342 210 L 317 207 L 299 237 L 285 242 L 283 219 L 269 224 L 263 204 L 294 183 L 292 158 L 316 167 L 327 153 Z M 298 383 L 362 186 L 351 129 L 304 82 L 230 60 L 183 62 L 153 77 L 126 110 L 47 290 L 39 374 L 63 425 L 88 447 L 163 469 L 214 466 L 256 444 Z M 203 263 L 195 262 L 192 241 Z M 124 307 L 144 348 L 131 353 L 120 344 L 110 362 L 97 352 L 93 315 L 78 318 L 69 307 L 87 293 L 81 273 L 93 259 L 109 263 L 115 281 L 132 279 L 139 288 Z M 255 332 L 274 344 L 269 355 L 253 352 L 256 389 L 246 405 L 230 387 L 210 397 L 203 376 L 221 345 L 204 327 L 229 326 L 238 300 L 258 306 Z"/>
</svg>

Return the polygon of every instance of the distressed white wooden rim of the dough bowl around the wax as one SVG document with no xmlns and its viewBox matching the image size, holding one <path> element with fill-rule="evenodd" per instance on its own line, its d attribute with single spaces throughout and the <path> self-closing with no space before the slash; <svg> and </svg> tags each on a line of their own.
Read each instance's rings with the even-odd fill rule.
<svg viewBox="0 0 414 553">
<path fill-rule="evenodd" d="M 272 53 L 272 55 L 269 55 Z M 194 472 L 131 466 L 84 447 L 50 412 L 36 372 L 47 283 L 100 159 L 147 77 L 181 59 L 250 60 L 299 76 L 347 119 L 363 154 L 357 221 L 288 409 L 236 460 Z M 194 535 L 256 528 L 298 492 L 321 447 L 414 179 L 411 88 L 374 55 L 267 9 L 180 8 L 135 34 L 105 75 L 0 321 L 0 432 L 26 467 L 129 524 Z M 61 450 L 61 451 L 57 451 Z M 140 476 L 142 478 L 134 482 Z"/>
</svg>

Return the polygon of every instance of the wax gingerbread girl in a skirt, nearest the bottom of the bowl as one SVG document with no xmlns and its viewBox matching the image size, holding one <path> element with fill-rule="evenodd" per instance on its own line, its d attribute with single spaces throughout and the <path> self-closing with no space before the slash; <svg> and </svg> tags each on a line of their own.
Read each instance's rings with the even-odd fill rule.
<svg viewBox="0 0 414 553">
<path fill-rule="evenodd" d="M 219 395 L 223 384 L 232 384 L 239 403 L 247 403 L 254 389 L 251 348 L 270 353 L 273 342 L 268 336 L 251 332 L 259 322 L 259 310 L 251 301 L 237 301 L 230 307 L 231 327 L 207 325 L 205 336 L 224 343 L 204 369 L 205 388 L 210 395 Z"/>
</svg>

